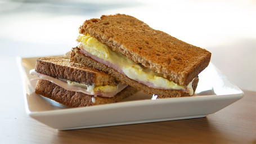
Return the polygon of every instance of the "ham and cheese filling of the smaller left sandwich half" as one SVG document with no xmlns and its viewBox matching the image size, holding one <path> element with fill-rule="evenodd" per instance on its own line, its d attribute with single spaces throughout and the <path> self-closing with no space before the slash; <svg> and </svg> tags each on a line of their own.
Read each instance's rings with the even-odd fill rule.
<svg viewBox="0 0 256 144">
<path fill-rule="evenodd" d="M 122 91 L 127 84 L 119 83 L 117 86 L 89 86 L 83 83 L 72 82 L 66 79 L 53 78 L 45 74 L 38 73 L 34 69 L 29 71 L 31 75 L 35 75 L 38 78 L 31 80 L 48 80 L 58 86 L 74 92 L 82 92 L 86 95 L 101 96 L 101 97 L 114 97 L 117 93 Z"/>
</svg>

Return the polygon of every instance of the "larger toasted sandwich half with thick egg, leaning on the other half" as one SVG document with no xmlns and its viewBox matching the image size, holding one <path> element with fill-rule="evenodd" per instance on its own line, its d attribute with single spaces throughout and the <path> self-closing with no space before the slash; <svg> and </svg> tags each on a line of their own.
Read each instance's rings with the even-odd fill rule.
<svg viewBox="0 0 256 144">
<path fill-rule="evenodd" d="M 86 20 L 79 33 L 71 61 L 160 98 L 193 95 L 211 56 L 128 15 Z"/>
</svg>

